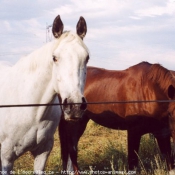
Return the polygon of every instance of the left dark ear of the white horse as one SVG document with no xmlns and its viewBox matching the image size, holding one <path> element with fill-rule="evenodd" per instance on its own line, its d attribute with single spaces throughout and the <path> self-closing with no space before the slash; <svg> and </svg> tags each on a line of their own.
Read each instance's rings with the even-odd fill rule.
<svg viewBox="0 0 175 175">
<path fill-rule="evenodd" d="M 53 36 L 55 38 L 59 38 L 61 36 L 61 34 L 63 33 L 63 28 L 64 28 L 64 25 L 61 21 L 61 18 L 60 18 L 60 15 L 58 15 L 54 22 L 53 22 L 53 26 L 52 26 L 52 33 L 53 33 Z"/>
</svg>

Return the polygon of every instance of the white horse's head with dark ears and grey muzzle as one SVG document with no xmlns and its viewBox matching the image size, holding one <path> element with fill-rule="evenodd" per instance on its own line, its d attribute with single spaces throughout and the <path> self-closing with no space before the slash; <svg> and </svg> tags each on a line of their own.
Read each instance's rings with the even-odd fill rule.
<svg viewBox="0 0 175 175">
<path fill-rule="evenodd" d="M 80 17 L 77 33 L 63 32 L 60 16 L 53 22 L 52 32 L 55 40 L 53 50 L 53 83 L 59 94 L 66 120 L 79 119 L 87 108 L 84 98 L 86 64 L 89 59 L 88 49 L 83 43 L 86 35 L 86 21 Z"/>
</svg>

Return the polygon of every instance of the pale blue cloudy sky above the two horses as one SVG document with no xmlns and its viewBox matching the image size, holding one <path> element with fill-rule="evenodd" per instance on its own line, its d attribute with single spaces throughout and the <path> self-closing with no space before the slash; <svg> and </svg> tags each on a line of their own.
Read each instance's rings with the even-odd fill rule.
<svg viewBox="0 0 175 175">
<path fill-rule="evenodd" d="M 58 14 L 65 30 L 85 18 L 91 66 L 148 61 L 175 70 L 175 0 L 0 0 L 0 61 L 14 64 L 51 40 L 46 27 Z"/>
</svg>

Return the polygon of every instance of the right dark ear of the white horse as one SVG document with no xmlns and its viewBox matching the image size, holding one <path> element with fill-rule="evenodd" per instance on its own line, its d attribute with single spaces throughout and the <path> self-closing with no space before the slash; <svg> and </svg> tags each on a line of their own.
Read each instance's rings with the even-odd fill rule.
<svg viewBox="0 0 175 175">
<path fill-rule="evenodd" d="M 85 19 L 81 16 L 77 23 L 77 34 L 81 39 L 83 39 L 87 32 L 87 26 Z"/>
</svg>

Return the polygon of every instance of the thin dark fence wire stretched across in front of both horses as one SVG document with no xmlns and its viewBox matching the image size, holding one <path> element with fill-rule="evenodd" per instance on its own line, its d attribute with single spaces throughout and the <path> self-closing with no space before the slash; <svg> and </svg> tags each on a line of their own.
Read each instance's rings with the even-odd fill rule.
<svg viewBox="0 0 175 175">
<path fill-rule="evenodd" d="M 131 101 L 108 101 L 108 102 L 86 102 L 87 105 L 102 105 L 102 104 L 125 104 L 125 103 L 172 103 L 175 100 L 131 100 Z M 66 103 L 66 105 L 81 105 L 82 103 Z M 48 104 L 14 104 L 0 105 L 0 108 L 15 108 L 15 107 L 38 107 L 38 106 L 63 106 L 63 103 L 48 103 Z"/>
</svg>

